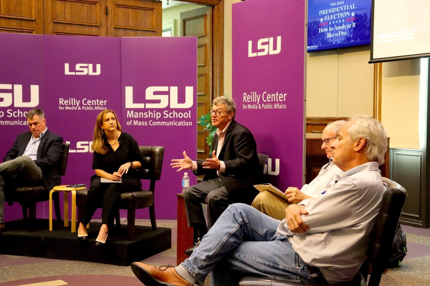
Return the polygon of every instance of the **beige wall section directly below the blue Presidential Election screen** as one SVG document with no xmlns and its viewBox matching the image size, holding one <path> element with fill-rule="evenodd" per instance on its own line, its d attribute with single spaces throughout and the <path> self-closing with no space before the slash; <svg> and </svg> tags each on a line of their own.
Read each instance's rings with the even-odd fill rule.
<svg viewBox="0 0 430 286">
<path fill-rule="evenodd" d="M 373 116 L 370 47 L 307 54 L 307 117 Z"/>
</svg>

